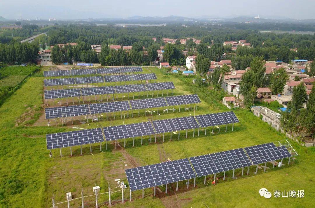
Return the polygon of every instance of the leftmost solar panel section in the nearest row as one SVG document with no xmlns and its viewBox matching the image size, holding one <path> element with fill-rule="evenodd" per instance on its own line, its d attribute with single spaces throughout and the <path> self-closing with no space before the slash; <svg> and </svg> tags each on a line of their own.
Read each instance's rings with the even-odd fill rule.
<svg viewBox="0 0 315 208">
<path fill-rule="evenodd" d="M 125 170 L 131 191 L 196 177 L 188 158 Z"/>
</svg>

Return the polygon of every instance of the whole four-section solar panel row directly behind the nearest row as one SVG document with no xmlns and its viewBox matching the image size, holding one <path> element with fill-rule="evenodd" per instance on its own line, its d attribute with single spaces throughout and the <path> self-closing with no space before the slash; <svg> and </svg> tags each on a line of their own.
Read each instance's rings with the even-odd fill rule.
<svg viewBox="0 0 315 208">
<path fill-rule="evenodd" d="M 133 138 L 137 136 L 149 136 L 165 132 L 198 129 L 209 126 L 238 123 L 238 118 L 233 111 L 197 115 L 152 122 L 142 122 L 103 128 L 106 141 Z M 47 149 L 70 147 L 104 141 L 102 129 L 89 129 L 69 131 L 46 135 Z"/>
</svg>

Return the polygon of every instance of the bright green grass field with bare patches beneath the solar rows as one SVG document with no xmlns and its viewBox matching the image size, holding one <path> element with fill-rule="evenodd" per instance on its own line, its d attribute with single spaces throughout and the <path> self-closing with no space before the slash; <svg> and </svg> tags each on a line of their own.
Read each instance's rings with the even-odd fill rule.
<svg viewBox="0 0 315 208">
<path fill-rule="evenodd" d="M 174 95 L 191 94 L 191 87 L 180 78 L 171 75 L 163 75 L 159 69 L 150 68 L 157 74 L 159 82 L 173 81 L 176 89 Z M 150 72 L 144 68 L 144 72 Z M 202 90 L 200 89 L 200 92 Z M 161 96 L 161 93 L 159 94 Z M 164 94 L 165 96 L 165 94 Z M 209 95 L 210 96 L 210 95 Z M 150 97 L 150 96 L 149 96 Z M 156 94 L 155 94 L 156 97 Z M 118 97 L 122 98 L 122 97 Z M 140 97 L 142 98 L 142 97 Z M 126 98 L 125 98 L 126 99 Z M 137 99 L 137 97 L 135 98 Z M 219 98 L 217 99 L 219 100 Z M 64 103 L 64 102 L 63 102 Z M 43 77 L 32 76 L 27 78 L 26 83 L 18 89 L 0 107 L 0 206 L 1 207 L 51 207 L 52 193 L 55 202 L 66 201 L 66 192 L 72 192 L 72 198 L 81 196 L 81 187 L 84 195 L 92 195 L 92 187 L 99 185 L 100 192 L 108 191 L 108 184 L 112 191 L 116 191 L 117 184 L 114 179 L 123 179 L 127 183 L 124 169 L 133 165 L 146 165 L 160 163 L 167 158 L 180 159 L 185 157 L 198 156 L 202 154 L 214 153 L 230 150 L 234 148 L 257 145 L 266 142 L 286 139 L 285 136 L 273 130 L 268 124 L 252 115 L 244 109 L 234 110 L 240 123 L 234 126 L 229 125 L 227 132 L 224 127 L 220 134 L 215 128 L 215 134 L 207 131 L 204 136 L 204 129 L 200 136 L 192 137 L 192 131 L 180 133 L 180 140 L 174 135 L 169 141 L 169 134 L 165 134 L 165 141 L 162 143 L 161 136 L 157 136 L 157 143 L 149 144 L 148 136 L 144 137 L 141 146 L 141 139 L 135 139 L 135 147 L 132 147 L 132 139 L 127 139 L 126 148 L 123 147 L 123 140 L 119 141 L 117 150 L 115 144 L 109 143 L 106 151 L 105 142 L 100 146 L 92 145 L 92 154 L 88 145 L 83 146 L 83 156 L 80 155 L 80 148 L 73 147 L 70 156 L 70 148 L 63 148 L 63 157 L 60 158 L 59 150 L 53 150 L 53 157 L 49 158 L 49 151 L 46 149 L 45 134 L 63 131 L 77 130 L 79 128 L 95 128 L 109 125 L 121 125 L 123 120 L 117 118 L 113 120 L 102 120 L 79 125 L 69 125 L 61 127 L 46 125 L 42 118 L 43 104 Z M 196 115 L 227 111 L 223 105 L 220 109 L 214 108 L 208 102 L 202 100 L 198 104 Z M 155 109 L 156 111 L 156 109 Z M 160 119 L 175 118 L 193 115 L 190 110 L 183 108 L 176 111 L 160 115 Z M 29 118 L 28 118 L 29 117 Z M 117 116 L 118 117 L 118 116 Z M 125 118 L 124 123 L 136 123 L 148 120 L 157 120 L 157 113 L 151 116 L 149 113 L 144 116 L 140 111 L 140 117 L 134 113 L 132 118 Z M 19 122 L 23 120 L 22 122 Z M 208 133 L 209 132 L 209 133 Z M 290 141 L 295 150 L 299 153 L 294 163 L 287 165 L 284 160 L 282 168 L 267 169 L 266 173 L 259 170 L 255 175 L 255 167 L 250 168 L 249 175 L 241 176 L 241 169 L 236 170 L 237 179 L 232 179 L 232 171 L 226 172 L 226 180 L 223 181 L 223 173 L 219 174 L 216 186 L 203 185 L 203 177 L 197 178 L 196 187 L 192 183 L 187 190 L 185 181 L 179 182 L 179 191 L 174 192 L 176 184 L 169 184 L 168 194 L 165 196 L 165 186 L 159 189 L 163 193 L 153 196 L 152 189 L 145 189 L 145 198 L 142 199 L 142 192 L 132 192 L 133 200 L 129 201 L 129 189 L 125 191 L 127 202 L 121 203 L 121 192 L 112 194 L 115 207 L 253 207 L 263 205 L 266 207 L 313 207 L 315 188 L 315 148 L 305 148 Z M 127 166 L 125 166 L 127 165 Z M 269 167 L 272 165 L 269 163 Z M 207 179 L 213 176 L 208 176 Z M 193 182 L 192 180 L 190 182 Z M 128 183 L 127 183 L 128 184 Z M 273 193 L 274 190 L 304 190 L 304 198 L 274 198 L 265 199 L 260 197 L 258 191 L 266 188 Z M 95 197 L 85 198 L 85 205 L 93 207 Z M 71 201 L 72 207 L 79 207 L 81 201 Z M 107 205 L 108 194 L 100 195 L 100 205 Z M 59 207 L 67 207 L 67 204 L 60 204 Z"/>
</svg>

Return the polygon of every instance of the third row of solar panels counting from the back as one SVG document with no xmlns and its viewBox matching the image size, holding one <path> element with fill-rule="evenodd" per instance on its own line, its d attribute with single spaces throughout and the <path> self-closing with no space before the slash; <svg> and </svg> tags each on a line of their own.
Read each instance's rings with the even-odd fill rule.
<svg viewBox="0 0 315 208">
<path fill-rule="evenodd" d="M 73 98 L 73 97 L 89 96 L 89 95 L 133 93 L 133 92 L 145 92 L 145 91 L 166 90 L 166 89 L 175 89 L 173 82 L 45 90 L 44 98 L 45 99 Z"/>
</svg>

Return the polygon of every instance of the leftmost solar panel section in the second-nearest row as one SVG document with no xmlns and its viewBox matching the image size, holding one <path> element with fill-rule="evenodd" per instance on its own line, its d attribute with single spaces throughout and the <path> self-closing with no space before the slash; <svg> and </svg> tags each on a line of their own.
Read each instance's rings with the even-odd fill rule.
<svg viewBox="0 0 315 208">
<path fill-rule="evenodd" d="M 47 149 L 72 147 L 102 141 L 104 141 L 104 138 L 101 128 L 46 134 Z"/>
</svg>

